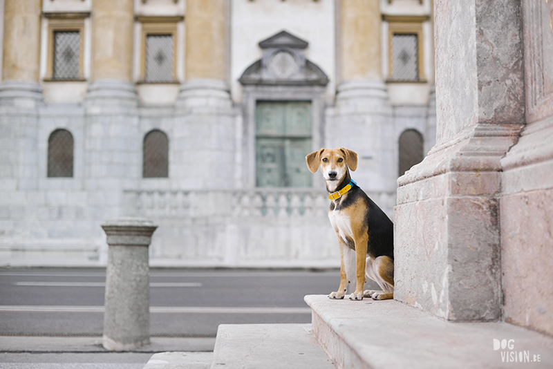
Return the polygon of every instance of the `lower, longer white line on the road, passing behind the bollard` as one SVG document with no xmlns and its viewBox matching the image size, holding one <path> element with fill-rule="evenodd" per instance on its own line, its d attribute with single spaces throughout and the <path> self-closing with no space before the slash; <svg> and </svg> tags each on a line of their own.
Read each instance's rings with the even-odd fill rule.
<svg viewBox="0 0 553 369">
<path fill-rule="evenodd" d="M 103 306 L 2 305 L 0 312 L 104 312 Z M 311 314 L 311 308 L 220 308 L 151 306 L 153 314 Z"/>
</svg>

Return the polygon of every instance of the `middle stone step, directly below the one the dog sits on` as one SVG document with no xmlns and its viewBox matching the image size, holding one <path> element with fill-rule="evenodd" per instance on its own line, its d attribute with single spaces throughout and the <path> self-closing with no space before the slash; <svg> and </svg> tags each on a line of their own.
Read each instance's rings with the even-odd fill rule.
<svg viewBox="0 0 553 369">
<path fill-rule="evenodd" d="M 212 369 L 335 369 L 310 324 L 221 324 Z"/>
</svg>

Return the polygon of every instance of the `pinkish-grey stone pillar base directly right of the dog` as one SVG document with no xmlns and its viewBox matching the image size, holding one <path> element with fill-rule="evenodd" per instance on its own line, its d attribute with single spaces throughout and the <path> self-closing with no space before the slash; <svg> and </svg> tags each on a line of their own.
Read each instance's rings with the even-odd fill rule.
<svg viewBox="0 0 553 369">
<path fill-rule="evenodd" d="M 452 321 L 500 318 L 500 159 L 521 127 L 471 126 L 397 180 L 394 299 Z"/>
</svg>

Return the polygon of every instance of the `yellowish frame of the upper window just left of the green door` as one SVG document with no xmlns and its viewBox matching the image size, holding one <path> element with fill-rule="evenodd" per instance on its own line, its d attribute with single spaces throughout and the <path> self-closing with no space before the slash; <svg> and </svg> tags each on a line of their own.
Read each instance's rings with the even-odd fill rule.
<svg viewBox="0 0 553 369">
<path fill-rule="evenodd" d="M 176 84 L 177 78 L 177 23 L 182 17 L 138 17 L 142 25 L 140 39 L 139 84 Z M 149 35 L 171 35 L 173 37 L 173 68 L 171 81 L 150 82 L 146 80 L 146 39 Z"/>
</svg>

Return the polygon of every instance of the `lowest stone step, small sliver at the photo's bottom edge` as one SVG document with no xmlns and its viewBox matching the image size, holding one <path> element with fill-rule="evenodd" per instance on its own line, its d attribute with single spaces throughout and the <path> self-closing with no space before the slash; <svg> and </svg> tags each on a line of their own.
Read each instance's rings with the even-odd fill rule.
<svg viewBox="0 0 553 369">
<path fill-rule="evenodd" d="M 144 369 L 209 369 L 212 360 L 213 352 L 160 352 Z"/>
</svg>

